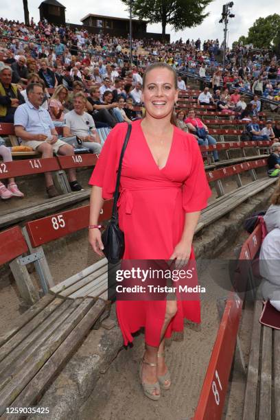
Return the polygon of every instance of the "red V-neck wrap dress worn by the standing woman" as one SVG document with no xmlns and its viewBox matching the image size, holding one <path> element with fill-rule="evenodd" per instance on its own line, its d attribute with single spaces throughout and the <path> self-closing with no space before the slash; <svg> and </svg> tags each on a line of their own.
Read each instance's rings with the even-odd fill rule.
<svg viewBox="0 0 280 420">
<path fill-rule="evenodd" d="M 110 132 L 89 181 L 102 187 L 104 199 L 113 197 L 126 130 L 127 124 L 121 123 Z M 169 259 L 180 241 L 185 213 L 206 207 L 210 195 L 193 135 L 174 127 L 170 154 L 160 170 L 143 135 L 141 120 L 132 122 L 118 202 L 119 227 L 126 244 L 124 259 Z M 190 259 L 194 259 L 193 250 Z M 117 301 L 116 305 L 124 345 L 132 342 L 133 332 L 145 327 L 145 342 L 159 346 L 165 301 Z M 200 323 L 199 301 L 178 301 L 177 307 L 165 337 L 183 330 L 183 318 Z"/>
</svg>

